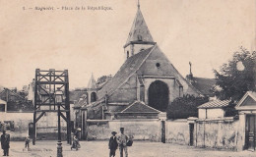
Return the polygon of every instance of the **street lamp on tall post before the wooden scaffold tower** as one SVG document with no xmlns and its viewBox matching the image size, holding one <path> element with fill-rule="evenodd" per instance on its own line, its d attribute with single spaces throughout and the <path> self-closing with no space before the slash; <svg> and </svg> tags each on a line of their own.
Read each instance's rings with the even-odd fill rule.
<svg viewBox="0 0 256 157">
<path fill-rule="evenodd" d="M 62 155 L 62 143 L 61 143 L 61 132 L 60 132 L 60 105 L 63 101 L 63 91 L 60 87 L 57 87 L 55 91 L 55 103 L 58 106 L 58 143 L 57 143 L 57 157 L 63 157 Z"/>
</svg>

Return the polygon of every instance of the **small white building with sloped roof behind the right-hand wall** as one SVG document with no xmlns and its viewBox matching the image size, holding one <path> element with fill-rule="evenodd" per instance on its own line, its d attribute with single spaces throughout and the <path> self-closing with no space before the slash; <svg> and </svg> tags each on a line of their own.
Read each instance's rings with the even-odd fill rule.
<svg viewBox="0 0 256 157">
<path fill-rule="evenodd" d="M 224 118 L 224 108 L 228 106 L 229 100 L 212 100 L 198 107 L 199 119 Z"/>
</svg>

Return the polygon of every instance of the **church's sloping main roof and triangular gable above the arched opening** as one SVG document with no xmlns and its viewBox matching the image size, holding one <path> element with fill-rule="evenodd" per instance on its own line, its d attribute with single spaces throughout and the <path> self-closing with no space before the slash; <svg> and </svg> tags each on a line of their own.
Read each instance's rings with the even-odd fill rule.
<svg viewBox="0 0 256 157">
<path fill-rule="evenodd" d="M 151 57 L 149 58 L 149 56 Z M 145 65 L 146 60 L 151 63 L 152 67 L 156 67 L 155 63 L 152 60 L 156 60 L 158 58 L 159 61 L 166 61 L 164 65 L 162 65 L 162 69 L 153 69 L 149 68 L 149 65 Z M 173 77 L 178 80 L 184 80 L 187 82 L 185 78 L 183 78 L 178 71 L 174 68 L 174 66 L 168 61 L 165 55 L 161 52 L 159 46 L 156 44 L 151 48 L 148 48 L 144 51 L 139 52 L 128 58 L 125 63 L 121 66 L 119 71 L 115 74 L 113 78 L 111 78 L 98 92 L 98 100 L 102 99 L 105 94 L 110 96 L 117 88 L 119 88 L 123 83 L 125 83 L 129 78 L 137 73 L 140 76 L 156 76 L 159 77 Z M 187 82 L 190 88 L 201 94 L 199 90 L 197 90 L 194 86 L 192 86 L 189 82 Z"/>
</svg>

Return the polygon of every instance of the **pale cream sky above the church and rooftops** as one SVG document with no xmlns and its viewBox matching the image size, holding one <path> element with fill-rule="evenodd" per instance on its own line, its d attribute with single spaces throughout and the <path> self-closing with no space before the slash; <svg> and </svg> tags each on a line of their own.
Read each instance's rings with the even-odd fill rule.
<svg viewBox="0 0 256 157">
<path fill-rule="evenodd" d="M 214 78 L 213 69 L 240 46 L 250 50 L 255 44 L 255 0 L 140 4 L 154 40 L 182 76 L 191 62 L 195 77 Z M 112 10 L 88 10 L 98 6 Z M 124 63 L 136 11 L 137 0 L 0 0 L 0 85 L 22 88 L 36 68 L 69 70 L 70 88 L 86 87 L 92 73 L 114 75 Z"/>
</svg>

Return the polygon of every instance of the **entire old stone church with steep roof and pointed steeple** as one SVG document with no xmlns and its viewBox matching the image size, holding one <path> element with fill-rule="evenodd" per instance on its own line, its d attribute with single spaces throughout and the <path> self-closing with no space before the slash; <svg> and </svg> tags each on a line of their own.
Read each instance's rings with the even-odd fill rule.
<svg viewBox="0 0 256 157">
<path fill-rule="evenodd" d="M 97 91 L 96 102 L 81 108 L 88 119 L 157 118 L 175 98 L 201 95 L 160 50 L 140 4 L 123 48 L 124 64 Z"/>
</svg>

